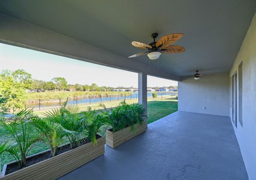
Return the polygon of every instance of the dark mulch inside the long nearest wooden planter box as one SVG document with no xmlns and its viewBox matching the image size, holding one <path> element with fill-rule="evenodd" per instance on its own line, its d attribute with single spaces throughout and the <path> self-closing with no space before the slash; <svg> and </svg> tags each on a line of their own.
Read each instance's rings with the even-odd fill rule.
<svg viewBox="0 0 256 180">
<path fill-rule="evenodd" d="M 96 138 L 99 139 L 99 138 L 101 138 L 101 136 L 97 134 Z M 86 144 L 88 142 L 90 142 L 90 141 L 82 141 L 81 144 L 79 144 L 79 146 L 84 145 L 84 144 Z M 60 155 L 61 153 L 67 152 L 69 150 L 70 150 L 69 144 L 63 145 L 63 146 L 58 148 L 57 155 Z M 52 156 L 51 156 L 51 151 L 50 150 L 47 150 L 47 151 L 45 151 L 43 153 L 39 153 L 38 155 L 32 155 L 31 157 L 28 157 L 26 159 L 26 166 L 24 166 L 22 168 L 34 165 L 37 162 L 41 162 L 41 161 L 49 159 L 51 157 Z M 18 163 L 17 162 L 13 162 L 12 164 L 7 165 L 7 168 L 6 168 L 6 171 L 5 171 L 5 175 L 13 173 L 13 172 L 15 172 L 15 171 L 17 171 L 19 169 L 20 169 L 20 167 L 19 167 Z"/>
</svg>

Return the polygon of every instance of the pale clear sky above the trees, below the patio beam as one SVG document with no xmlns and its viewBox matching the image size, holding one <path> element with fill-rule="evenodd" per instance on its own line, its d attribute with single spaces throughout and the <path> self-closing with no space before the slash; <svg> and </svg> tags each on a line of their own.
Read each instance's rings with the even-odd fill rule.
<svg viewBox="0 0 256 180">
<path fill-rule="evenodd" d="M 0 71 L 23 69 L 33 79 L 51 81 L 63 77 L 68 84 L 96 83 L 107 87 L 138 87 L 138 73 L 76 59 L 0 44 Z M 169 87 L 177 81 L 148 76 L 148 87 Z"/>
</svg>

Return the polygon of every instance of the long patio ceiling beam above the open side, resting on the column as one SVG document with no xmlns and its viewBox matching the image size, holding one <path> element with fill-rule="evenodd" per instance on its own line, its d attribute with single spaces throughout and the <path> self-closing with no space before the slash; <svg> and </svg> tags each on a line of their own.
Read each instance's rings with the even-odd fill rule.
<svg viewBox="0 0 256 180">
<path fill-rule="evenodd" d="M 0 42 L 170 80 L 180 77 L 85 42 L 0 14 Z"/>
</svg>

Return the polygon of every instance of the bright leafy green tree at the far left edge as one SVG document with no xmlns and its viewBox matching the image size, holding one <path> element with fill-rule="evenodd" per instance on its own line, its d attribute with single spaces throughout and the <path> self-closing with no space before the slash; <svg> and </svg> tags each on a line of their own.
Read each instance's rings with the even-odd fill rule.
<svg viewBox="0 0 256 180">
<path fill-rule="evenodd" d="M 31 87 L 31 74 L 24 70 L 3 70 L 0 74 L 0 109 L 15 112 L 25 102 L 26 88 Z"/>
</svg>

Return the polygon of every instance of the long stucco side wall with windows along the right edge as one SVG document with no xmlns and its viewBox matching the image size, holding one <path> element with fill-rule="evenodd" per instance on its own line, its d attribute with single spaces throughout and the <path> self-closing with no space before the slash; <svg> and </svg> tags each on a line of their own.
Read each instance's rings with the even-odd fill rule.
<svg viewBox="0 0 256 180">
<path fill-rule="evenodd" d="M 256 179 L 256 14 L 231 68 L 230 77 L 235 72 L 238 72 L 238 66 L 242 61 L 243 127 L 238 122 L 237 128 L 234 128 L 249 178 Z M 230 107 L 230 117 L 232 117 L 231 113 Z M 239 117 L 239 111 L 237 112 L 237 117 Z"/>
</svg>

